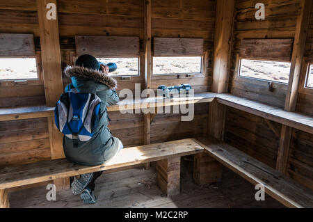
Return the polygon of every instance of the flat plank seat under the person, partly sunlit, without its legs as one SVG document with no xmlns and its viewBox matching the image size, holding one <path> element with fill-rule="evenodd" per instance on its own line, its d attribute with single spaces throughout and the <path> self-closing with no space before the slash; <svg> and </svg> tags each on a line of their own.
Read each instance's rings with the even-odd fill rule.
<svg viewBox="0 0 313 222">
<path fill-rule="evenodd" d="M 0 169 L 0 189 L 18 187 L 26 184 L 71 177 L 84 173 L 106 171 L 112 168 L 143 164 L 147 161 L 159 161 L 174 157 L 202 152 L 203 148 L 191 138 L 142 145 L 120 151 L 118 157 L 99 166 L 81 166 L 66 159 L 40 161 L 35 164 L 11 166 Z"/>
</svg>

